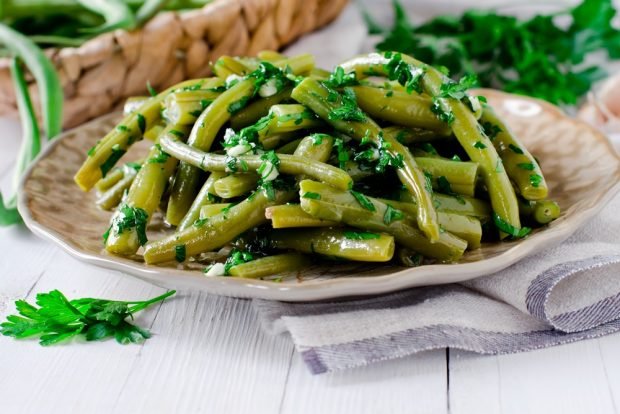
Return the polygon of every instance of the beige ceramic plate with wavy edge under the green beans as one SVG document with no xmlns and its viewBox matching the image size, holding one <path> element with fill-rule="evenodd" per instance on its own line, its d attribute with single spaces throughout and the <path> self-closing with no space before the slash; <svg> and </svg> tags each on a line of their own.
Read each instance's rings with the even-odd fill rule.
<svg viewBox="0 0 620 414">
<path fill-rule="evenodd" d="M 73 183 L 73 175 L 86 151 L 113 127 L 118 118 L 114 114 L 65 133 L 47 148 L 22 182 L 19 210 L 34 233 L 59 244 L 78 259 L 175 289 L 304 301 L 473 279 L 500 271 L 566 239 L 620 189 L 620 159 L 599 132 L 542 101 L 497 91 L 483 93 L 540 159 L 551 198 L 560 203 L 562 216 L 524 240 L 484 245 L 468 252 L 458 264 L 408 269 L 368 264 L 315 267 L 276 283 L 205 277 L 197 268 L 146 266 L 140 256 L 109 256 L 102 249 L 101 234 L 108 226 L 110 213 L 95 207 L 95 195 L 82 193 Z M 129 157 L 138 158 L 145 145 L 137 145 Z M 149 238 L 166 231 L 154 223 Z"/>
</svg>

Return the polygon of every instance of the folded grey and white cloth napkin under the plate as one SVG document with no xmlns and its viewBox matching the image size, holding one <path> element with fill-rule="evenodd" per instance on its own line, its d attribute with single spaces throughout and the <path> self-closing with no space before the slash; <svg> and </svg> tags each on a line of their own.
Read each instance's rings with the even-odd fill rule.
<svg viewBox="0 0 620 414">
<path fill-rule="evenodd" d="M 254 307 L 314 374 L 429 349 L 502 354 L 595 338 L 620 329 L 619 210 L 617 196 L 558 247 L 467 283 Z"/>
</svg>

